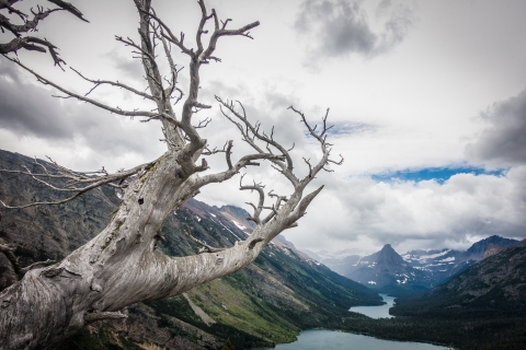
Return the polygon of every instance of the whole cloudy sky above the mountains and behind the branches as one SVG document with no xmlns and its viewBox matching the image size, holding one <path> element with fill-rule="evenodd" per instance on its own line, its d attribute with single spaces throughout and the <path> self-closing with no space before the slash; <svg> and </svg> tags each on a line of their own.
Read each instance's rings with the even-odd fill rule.
<svg viewBox="0 0 526 350">
<path fill-rule="evenodd" d="M 91 85 L 69 67 L 144 89 L 139 60 L 115 40 L 118 35 L 138 42 L 133 1 L 71 2 L 90 23 L 54 13 L 34 33 L 60 48 L 66 71 L 48 55 L 21 51 L 20 59 L 79 93 Z M 235 158 L 250 152 L 214 95 L 239 100 L 251 120 L 265 130 L 275 126 L 276 140 L 295 144 L 295 168 L 305 176 L 301 158 L 321 153 L 287 107 L 301 109 L 312 124 L 330 108 L 332 154 L 345 161 L 319 175 L 310 189 L 321 184 L 324 189 L 299 226 L 284 232 L 297 247 L 366 254 L 391 244 L 405 253 L 466 249 L 493 234 L 526 238 L 525 1 L 205 2 L 221 19 L 232 19 L 231 28 L 261 22 L 251 31 L 253 39 L 220 40 L 216 54 L 222 61 L 202 68 L 199 101 L 213 108 L 197 114 L 196 122 L 213 119 L 202 130 L 211 147 L 233 140 Z M 195 1 L 152 4 L 174 33 L 186 33 L 185 43 L 195 44 Z M 0 43 L 9 38 L 0 34 Z M 176 50 L 173 56 L 178 67 L 187 66 L 186 57 Z M 111 115 L 54 94 L 0 57 L 1 149 L 48 155 L 78 171 L 129 168 L 164 152 L 156 121 Z M 98 89 L 91 96 L 127 109 L 148 106 L 115 89 Z M 211 172 L 226 167 L 221 155 L 208 163 Z M 267 165 L 249 170 L 245 178 L 290 191 Z M 247 210 L 244 202 L 254 200 L 239 191 L 239 175 L 203 188 L 196 199 Z"/>
</svg>

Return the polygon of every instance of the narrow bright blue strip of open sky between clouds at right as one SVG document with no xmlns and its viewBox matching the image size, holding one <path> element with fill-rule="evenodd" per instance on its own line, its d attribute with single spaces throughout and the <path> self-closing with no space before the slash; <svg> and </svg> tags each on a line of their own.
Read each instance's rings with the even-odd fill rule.
<svg viewBox="0 0 526 350">
<path fill-rule="evenodd" d="M 487 171 L 483 167 L 462 166 L 462 167 L 425 167 L 420 170 L 404 170 L 397 172 L 389 172 L 382 174 L 375 174 L 370 177 L 376 182 L 389 183 L 397 180 L 413 180 L 422 182 L 434 179 L 439 184 L 448 180 L 453 175 L 457 174 L 474 174 L 474 175 L 503 175 L 505 170 Z"/>
</svg>

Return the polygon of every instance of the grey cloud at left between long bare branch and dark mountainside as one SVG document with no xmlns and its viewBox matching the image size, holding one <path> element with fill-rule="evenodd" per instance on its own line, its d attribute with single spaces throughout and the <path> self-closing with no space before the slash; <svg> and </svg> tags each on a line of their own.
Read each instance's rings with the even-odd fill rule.
<svg viewBox="0 0 526 350">
<path fill-rule="evenodd" d="M 157 141 L 160 130 L 152 124 L 123 124 L 123 117 L 101 109 L 53 98 L 53 91 L 25 82 L 16 67 L 0 60 L 0 129 L 50 142 L 83 144 L 104 154 L 148 153 L 145 140 Z M 159 135 L 158 135 L 159 133 Z M 73 147 L 71 147 L 73 149 Z M 151 156 L 149 154 L 149 156 Z"/>
</svg>

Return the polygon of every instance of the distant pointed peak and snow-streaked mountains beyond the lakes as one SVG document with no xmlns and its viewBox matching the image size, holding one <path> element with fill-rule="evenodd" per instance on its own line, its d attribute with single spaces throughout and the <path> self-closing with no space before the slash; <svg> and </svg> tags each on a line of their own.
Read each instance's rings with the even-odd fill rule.
<svg viewBox="0 0 526 350">
<path fill-rule="evenodd" d="M 491 254 L 515 243 L 516 240 L 493 235 L 474 243 L 466 252 L 411 250 L 401 256 L 387 244 L 368 256 L 329 257 L 321 262 L 371 289 L 401 295 L 430 290 L 481 260 L 488 249 Z"/>
</svg>

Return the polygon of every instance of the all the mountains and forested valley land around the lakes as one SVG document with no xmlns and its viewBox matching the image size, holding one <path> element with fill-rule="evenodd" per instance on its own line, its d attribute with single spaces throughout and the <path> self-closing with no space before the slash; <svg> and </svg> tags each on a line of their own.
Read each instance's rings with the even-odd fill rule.
<svg viewBox="0 0 526 350">
<path fill-rule="evenodd" d="M 0 151 L 1 167 L 23 165 L 35 166 L 28 158 Z M 0 196 L 11 203 L 58 198 L 10 174 L 0 175 Z M 67 206 L 0 209 L 0 243 L 16 247 L 22 266 L 58 260 L 96 234 L 117 206 L 117 194 L 104 187 Z M 167 221 L 158 249 L 195 254 L 199 246 L 186 231 L 214 247 L 231 246 L 250 235 L 247 215 L 237 207 L 191 199 Z M 278 236 L 249 268 L 176 298 L 128 306 L 125 320 L 94 323 L 60 349 L 218 349 L 227 339 L 236 349 L 249 349 L 291 342 L 301 330 L 319 327 L 456 349 L 523 349 L 525 246 L 490 236 L 466 252 L 399 255 L 386 245 L 368 256 L 320 258 L 321 264 Z M 0 271 L 2 289 L 16 279 L 3 255 Z M 396 317 L 354 312 L 353 306 L 381 305 L 377 292 L 397 296 L 389 311 Z"/>
</svg>

